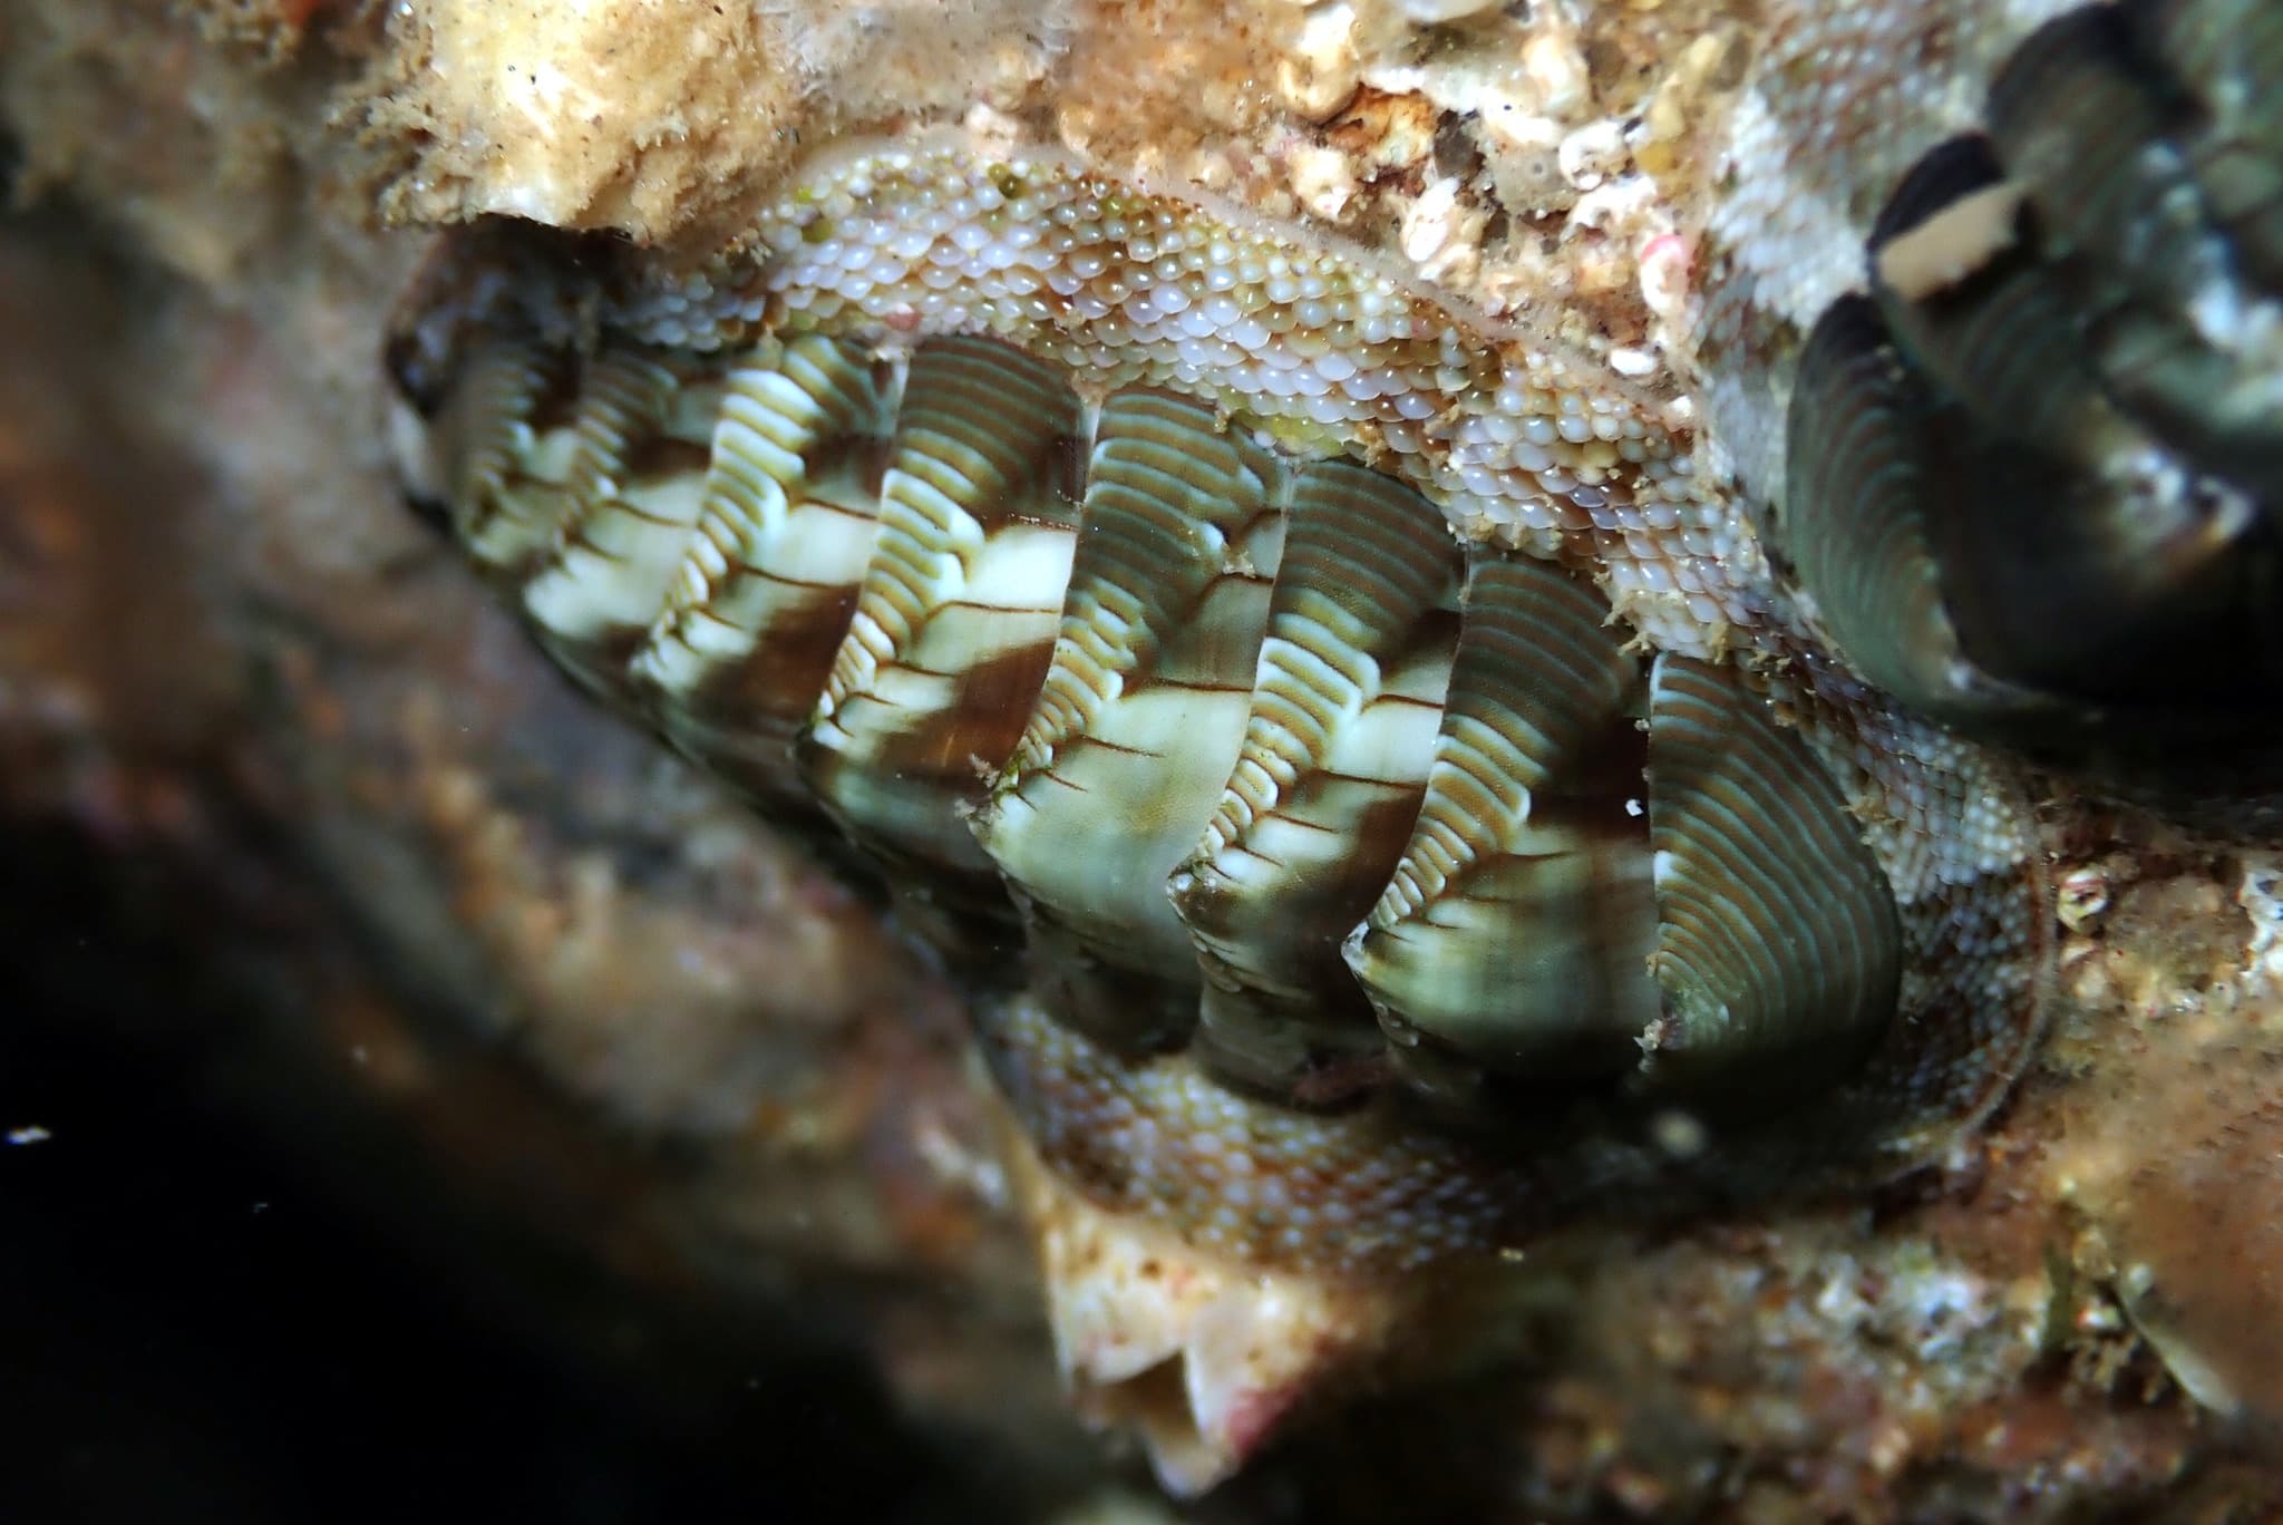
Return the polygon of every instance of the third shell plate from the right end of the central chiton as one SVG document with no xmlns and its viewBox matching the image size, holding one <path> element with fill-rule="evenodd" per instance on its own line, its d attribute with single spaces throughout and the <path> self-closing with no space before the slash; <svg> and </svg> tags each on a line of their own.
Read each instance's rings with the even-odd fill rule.
<svg viewBox="0 0 2283 1525">
<path fill-rule="evenodd" d="M 1413 489 L 1304 466 L 1244 744 L 1173 906 L 1205 963 L 1205 1064 L 1290 1091 L 1379 1046 L 1340 943 L 1418 813 L 1461 555 Z"/>
</svg>

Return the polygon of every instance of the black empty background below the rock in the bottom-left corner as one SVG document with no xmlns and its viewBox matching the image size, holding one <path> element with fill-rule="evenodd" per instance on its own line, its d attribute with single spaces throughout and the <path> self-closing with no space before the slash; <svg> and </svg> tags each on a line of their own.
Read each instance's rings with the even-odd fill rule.
<svg viewBox="0 0 2283 1525">
<path fill-rule="evenodd" d="M 0 1144 L 0 1518 L 1002 1518 L 854 1351 L 644 1299 L 295 1096 L 199 904 L 0 831 L 0 1135 L 50 1135 Z"/>
</svg>

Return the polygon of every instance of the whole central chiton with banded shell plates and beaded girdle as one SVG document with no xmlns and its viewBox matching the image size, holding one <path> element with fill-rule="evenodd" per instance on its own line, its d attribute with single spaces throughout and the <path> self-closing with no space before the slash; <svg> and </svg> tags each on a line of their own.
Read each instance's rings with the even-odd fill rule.
<svg viewBox="0 0 2283 1525">
<path fill-rule="evenodd" d="M 1308 228 L 941 130 L 694 272 L 477 231 L 427 491 L 886 886 L 1046 1164 L 1374 1278 L 1883 1180 L 2048 922 L 2009 765 L 1790 616 L 1683 411 Z"/>
</svg>

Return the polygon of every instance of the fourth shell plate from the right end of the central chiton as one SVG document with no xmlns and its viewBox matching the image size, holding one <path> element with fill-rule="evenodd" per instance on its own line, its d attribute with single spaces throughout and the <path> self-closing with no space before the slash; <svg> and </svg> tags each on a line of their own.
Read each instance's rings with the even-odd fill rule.
<svg viewBox="0 0 2283 1525">
<path fill-rule="evenodd" d="M 1210 406 L 1160 393 L 1103 404 L 1052 667 L 973 822 L 1036 920 L 1189 989 L 1196 954 L 1164 883 L 1244 737 L 1278 489 L 1274 457 Z"/>
</svg>

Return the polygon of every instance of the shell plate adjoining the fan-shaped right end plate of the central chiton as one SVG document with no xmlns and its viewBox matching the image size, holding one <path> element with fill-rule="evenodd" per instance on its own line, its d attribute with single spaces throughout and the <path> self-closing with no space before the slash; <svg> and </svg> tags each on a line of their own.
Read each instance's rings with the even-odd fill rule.
<svg viewBox="0 0 2283 1525">
<path fill-rule="evenodd" d="M 1475 557 L 1418 824 L 1347 941 L 1393 1032 L 1539 1078 L 1639 1062 L 1657 1018 L 1641 710 L 1589 584 Z"/>
</svg>

